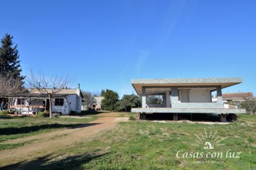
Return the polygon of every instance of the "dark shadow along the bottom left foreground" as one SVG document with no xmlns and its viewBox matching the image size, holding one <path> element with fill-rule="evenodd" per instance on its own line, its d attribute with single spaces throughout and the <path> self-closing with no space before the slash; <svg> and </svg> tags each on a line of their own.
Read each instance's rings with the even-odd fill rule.
<svg viewBox="0 0 256 170">
<path fill-rule="evenodd" d="M 48 154 L 44 157 L 38 157 L 31 162 L 18 162 L 17 164 L 3 166 L 0 169 L 82 169 L 82 164 L 105 155 L 107 155 L 107 153 L 79 154 L 68 157 L 65 157 L 65 155 L 58 155 L 54 157 L 52 154 Z"/>
</svg>

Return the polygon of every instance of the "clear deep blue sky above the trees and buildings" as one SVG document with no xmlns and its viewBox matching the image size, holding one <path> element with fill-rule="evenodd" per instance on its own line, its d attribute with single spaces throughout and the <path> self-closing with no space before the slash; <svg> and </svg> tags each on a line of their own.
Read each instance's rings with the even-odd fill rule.
<svg viewBox="0 0 256 170">
<path fill-rule="evenodd" d="M 85 91 L 135 93 L 131 79 L 242 77 L 255 86 L 256 1 L 1 0 L 23 74 L 68 74 Z"/>
</svg>

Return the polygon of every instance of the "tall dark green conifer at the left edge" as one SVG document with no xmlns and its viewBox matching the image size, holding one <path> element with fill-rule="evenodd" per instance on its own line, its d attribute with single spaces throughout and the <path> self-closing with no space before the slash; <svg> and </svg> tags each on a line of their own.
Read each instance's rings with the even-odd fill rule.
<svg viewBox="0 0 256 170">
<path fill-rule="evenodd" d="M 21 64 L 20 60 L 18 60 L 17 45 L 12 42 L 13 38 L 13 36 L 6 34 L 1 39 L 0 73 L 6 77 L 12 77 L 14 80 L 22 81 L 25 77 L 21 76 Z"/>
</svg>

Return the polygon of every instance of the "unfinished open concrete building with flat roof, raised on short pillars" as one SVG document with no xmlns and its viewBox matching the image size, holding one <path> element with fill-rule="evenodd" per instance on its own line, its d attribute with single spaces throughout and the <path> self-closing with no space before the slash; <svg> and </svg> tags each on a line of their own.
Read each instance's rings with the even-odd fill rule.
<svg viewBox="0 0 256 170">
<path fill-rule="evenodd" d="M 240 78 L 205 79 L 133 79 L 132 86 L 142 96 L 142 108 L 132 108 L 140 118 L 149 113 L 174 113 L 178 120 L 180 113 L 216 113 L 220 120 L 230 113 L 246 113 L 245 109 L 224 108 L 222 89 L 240 84 Z M 217 102 L 212 101 L 211 92 L 217 91 Z M 148 105 L 148 96 L 163 97 L 161 105 Z"/>
</svg>

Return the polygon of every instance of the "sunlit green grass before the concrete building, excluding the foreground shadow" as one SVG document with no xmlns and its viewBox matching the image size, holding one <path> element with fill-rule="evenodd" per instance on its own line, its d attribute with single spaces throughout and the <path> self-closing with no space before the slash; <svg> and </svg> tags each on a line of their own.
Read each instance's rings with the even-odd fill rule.
<svg viewBox="0 0 256 170">
<path fill-rule="evenodd" d="M 227 137 L 224 146 L 214 151 L 191 145 L 194 133 L 218 130 L 220 137 Z M 106 156 L 82 164 L 83 169 L 256 169 L 255 126 L 233 123 L 230 125 L 201 125 L 188 123 L 151 123 L 134 121 L 87 143 L 87 152 L 101 149 Z M 252 140 L 253 139 L 253 140 Z M 104 141 L 100 142 L 99 141 Z M 95 143 L 97 145 L 95 146 Z M 82 147 L 82 143 L 80 144 Z M 85 145 L 84 145 L 85 146 Z M 110 147 L 106 150 L 106 148 Z M 228 149 L 242 152 L 240 159 L 220 159 L 221 164 L 195 164 L 208 159 L 179 159 L 176 153 L 223 152 Z M 75 151 L 75 150 L 73 150 Z M 81 154 L 81 153 L 80 153 Z M 211 159 L 219 162 L 219 159 Z M 230 168 L 231 167 L 231 168 Z"/>
</svg>

